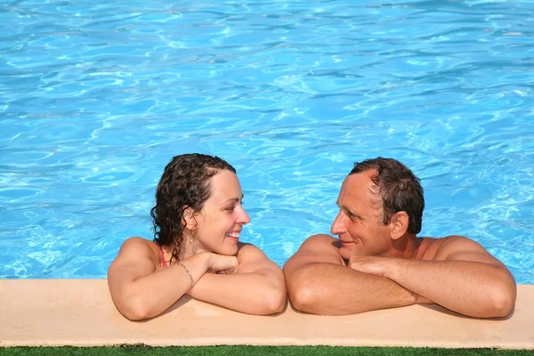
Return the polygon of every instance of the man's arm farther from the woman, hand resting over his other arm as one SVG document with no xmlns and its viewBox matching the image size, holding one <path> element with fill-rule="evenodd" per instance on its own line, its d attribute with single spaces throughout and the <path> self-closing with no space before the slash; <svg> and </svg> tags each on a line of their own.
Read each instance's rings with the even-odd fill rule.
<svg viewBox="0 0 534 356">
<path fill-rule="evenodd" d="M 516 286 L 510 271 L 471 239 L 451 236 L 433 259 L 360 257 L 356 271 L 384 276 L 433 303 L 477 318 L 505 317 L 514 309 Z"/>
</svg>

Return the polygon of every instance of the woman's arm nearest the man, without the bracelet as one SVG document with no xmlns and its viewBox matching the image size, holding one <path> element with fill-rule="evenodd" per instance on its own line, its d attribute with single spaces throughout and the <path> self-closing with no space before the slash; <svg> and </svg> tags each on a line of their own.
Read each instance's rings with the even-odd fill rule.
<svg viewBox="0 0 534 356">
<path fill-rule="evenodd" d="M 187 294 L 238 312 L 281 312 L 287 289 L 279 266 L 253 245 L 241 247 L 238 260 L 236 274 L 206 273 Z"/>
</svg>

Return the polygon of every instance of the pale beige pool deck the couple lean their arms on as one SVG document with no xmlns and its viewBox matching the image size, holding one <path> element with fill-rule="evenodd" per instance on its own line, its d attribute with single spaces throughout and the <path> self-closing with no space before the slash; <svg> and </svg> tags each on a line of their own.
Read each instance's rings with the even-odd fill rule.
<svg viewBox="0 0 534 356">
<path fill-rule="evenodd" d="M 274 316 L 232 312 L 183 297 L 158 318 L 126 320 L 105 279 L 0 279 L 0 346 L 346 345 L 534 350 L 534 286 L 518 286 L 515 311 L 477 320 L 412 305 L 350 316 L 287 306 Z"/>
</svg>

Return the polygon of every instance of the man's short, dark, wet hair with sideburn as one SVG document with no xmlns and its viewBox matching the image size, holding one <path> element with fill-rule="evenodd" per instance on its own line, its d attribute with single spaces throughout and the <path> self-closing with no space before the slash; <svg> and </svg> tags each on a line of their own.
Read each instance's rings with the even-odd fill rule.
<svg viewBox="0 0 534 356">
<path fill-rule="evenodd" d="M 409 216 L 408 231 L 421 231 L 425 198 L 419 178 L 407 166 L 393 158 L 372 158 L 356 162 L 351 174 L 376 170 L 371 177 L 382 198 L 384 224 L 390 223 L 392 214 L 400 211 Z"/>
</svg>

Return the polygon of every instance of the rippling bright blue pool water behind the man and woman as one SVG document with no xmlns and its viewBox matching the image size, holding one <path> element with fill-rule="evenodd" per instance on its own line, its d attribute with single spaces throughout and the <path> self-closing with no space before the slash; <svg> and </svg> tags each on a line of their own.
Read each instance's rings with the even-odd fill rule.
<svg viewBox="0 0 534 356">
<path fill-rule="evenodd" d="M 280 265 L 385 156 L 422 179 L 422 235 L 534 283 L 531 1 L 17 0 L 0 29 L 0 278 L 105 277 L 166 163 L 204 152 Z"/>
</svg>

